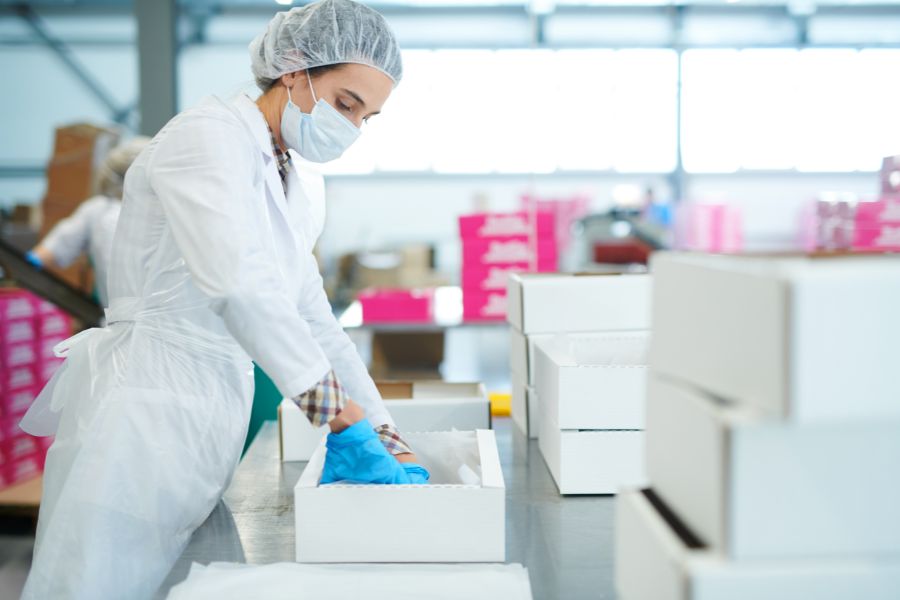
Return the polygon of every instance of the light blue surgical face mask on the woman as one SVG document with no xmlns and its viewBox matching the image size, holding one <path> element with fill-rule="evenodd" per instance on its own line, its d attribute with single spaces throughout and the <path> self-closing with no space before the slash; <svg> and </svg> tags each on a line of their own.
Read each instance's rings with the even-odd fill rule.
<svg viewBox="0 0 900 600">
<path fill-rule="evenodd" d="M 312 113 L 303 112 L 291 101 L 291 88 L 288 88 L 288 102 L 281 115 L 281 138 L 288 148 L 296 150 L 306 160 L 328 162 L 343 154 L 360 132 L 328 102 L 321 98 L 316 100 L 309 72 L 306 79 L 316 104 Z"/>
</svg>

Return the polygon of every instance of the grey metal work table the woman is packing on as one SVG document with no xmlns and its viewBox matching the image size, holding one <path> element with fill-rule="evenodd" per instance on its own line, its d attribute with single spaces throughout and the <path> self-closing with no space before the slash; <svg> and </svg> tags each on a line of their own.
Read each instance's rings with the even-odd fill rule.
<svg viewBox="0 0 900 600">
<path fill-rule="evenodd" d="M 494 430 L 506 480 L 507 562 L 528 567 L 535 600 L 614 598 L 614 498 L 561 497 L 537 441 L 508 418 L 495 418 Z M 278 427 L 267 422 L 158 597 L 184 580 L 193 562 L 293 561 L 293 488 L 305 466 L 279 461 Z"/>
</svg>

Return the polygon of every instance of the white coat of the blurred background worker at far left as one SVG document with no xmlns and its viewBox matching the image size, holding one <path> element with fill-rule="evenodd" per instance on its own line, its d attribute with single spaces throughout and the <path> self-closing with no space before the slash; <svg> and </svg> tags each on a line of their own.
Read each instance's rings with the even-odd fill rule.
<svg viewBox="0 0 900 600">
<path fill-rule="evenodd" d="M 69 217 L 57 223 L 41 240 L 41 246 L 52 255 L 61 267 L 68 267 L 75 259 L 88 253 L 94 265 L 97 295 L 103 306 L 109 306 L 107 273 L 112 252 L 113 234 L 122 203 L 108 196 L 94 196 L 81 203 Z"/>
</svg>

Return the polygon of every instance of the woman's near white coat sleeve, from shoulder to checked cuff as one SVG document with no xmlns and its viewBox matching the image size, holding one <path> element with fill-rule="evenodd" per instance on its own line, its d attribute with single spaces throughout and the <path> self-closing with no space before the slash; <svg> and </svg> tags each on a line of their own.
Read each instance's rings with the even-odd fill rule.
<svg viewBox="0 0 900 600">
<path fill-rule="evenodd" d="M 273 255 L 258 147 L 227 117 L 167 127 L 149 159 L 150 185 L 193 282 L 282 394 L 305 392 L 329 364 Z"/>
</svg>

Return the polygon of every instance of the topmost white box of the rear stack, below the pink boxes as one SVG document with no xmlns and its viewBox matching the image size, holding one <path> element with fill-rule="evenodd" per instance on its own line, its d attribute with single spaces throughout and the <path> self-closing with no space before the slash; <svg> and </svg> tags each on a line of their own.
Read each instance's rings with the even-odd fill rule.
<svg viewBox="0 0 900 600">
<path fill-rule="evenodd" d="M 520 332 L 650 329 L 650 275 L 514 273 L 507 321 Z"/>
</svg>

